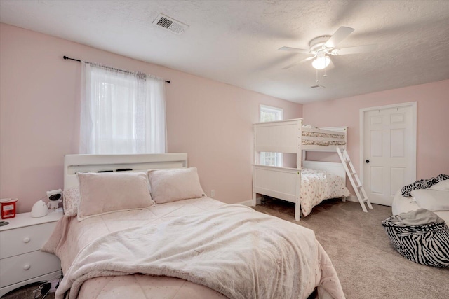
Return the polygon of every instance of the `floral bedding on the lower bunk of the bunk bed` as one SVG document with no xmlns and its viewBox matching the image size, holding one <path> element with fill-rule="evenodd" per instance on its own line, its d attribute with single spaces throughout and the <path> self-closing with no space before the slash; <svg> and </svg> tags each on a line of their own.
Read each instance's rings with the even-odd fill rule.
<svg viewBox="0 0 449 299">
<path fill-rule="evenodd" d="M 304 216 L 323 200 L 350 195 L 343 179 L 336 174 L 304 168 L 301 172 L 301 211 Z"/>
</svg>

